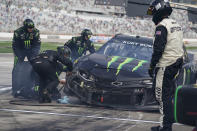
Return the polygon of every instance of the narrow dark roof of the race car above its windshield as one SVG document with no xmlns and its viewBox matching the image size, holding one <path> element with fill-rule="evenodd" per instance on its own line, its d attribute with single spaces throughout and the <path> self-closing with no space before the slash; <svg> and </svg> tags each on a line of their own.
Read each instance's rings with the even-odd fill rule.
<svg viewBox="0 0 197 131">
<path fill-rule="evenodd" d="M 117 34 L 112 39 L 118 39 L 118 40 L 121 40 L 121 41 L 122 40 L 134 41 L 134 42 L 146 43 L 146 44 L 149 44 L 149 45 L 153 45 L 153 38 L 150 38 L 150 37 Z"/>
</svg>

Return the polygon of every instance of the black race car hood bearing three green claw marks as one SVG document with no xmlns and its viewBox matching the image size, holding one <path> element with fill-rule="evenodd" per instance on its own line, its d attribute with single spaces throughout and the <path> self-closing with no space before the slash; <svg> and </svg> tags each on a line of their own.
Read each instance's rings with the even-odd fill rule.
<svg viewBox="0 0 197 131">
<path fill-rule="evenodd" d="M 147 78 L 149 61 L 120 56 L 91 54 L 82 59 L 81 70 L 104 79 L 128 81 L 134 78 Z"/>
</svg>

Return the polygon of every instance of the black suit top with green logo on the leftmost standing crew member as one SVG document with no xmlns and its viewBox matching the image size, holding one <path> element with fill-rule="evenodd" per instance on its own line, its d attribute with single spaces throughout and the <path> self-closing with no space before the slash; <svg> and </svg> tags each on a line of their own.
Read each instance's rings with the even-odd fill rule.
<svg viewBox="0 0 197 131">
<path fill-rule="evenodd" d="M 40 33 L 39 30 L 33 28 L 32 32 L 28 32 L 23 26 L 14 31 L 12 48 L 14 52 L 14 65 L 23 62 L 27 56 L 28 60 L 38 55 L 40 52 Z"/>
</svg>

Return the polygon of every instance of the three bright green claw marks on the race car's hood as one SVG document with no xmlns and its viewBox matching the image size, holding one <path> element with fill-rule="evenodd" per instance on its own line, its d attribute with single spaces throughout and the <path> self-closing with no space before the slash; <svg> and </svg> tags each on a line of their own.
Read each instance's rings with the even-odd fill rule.
<svg viewBox="0 0 197 131">
<path fill-rule="evenodd" d="M 107 64 L 107 72 L 109 71 L 109 67 L 112 63 L 116 62 L 118 59 L 120 58 L 120 56 L 113 56 L 112 59 L 108 62 Z M 130 63 L 131 61 L 133 61 L 134 58 L 126 58 L 122 63 L 119 64 L 118 68 L 117 68 L 117 72 L 116 72 L 116 75 L 119 74 L 120 70 L 122 69 L 122 67 L 125 65 L 125 64 L 128 64 Z M 132 72 L 138 70 L 139 67 L 141 67 L 144 63 L 147 63 L 148 61 L 146 60 L 140 60 L 138 62 L 138 65 L 135 66 L 133 69 L 132 69 Z"/>
</svg>

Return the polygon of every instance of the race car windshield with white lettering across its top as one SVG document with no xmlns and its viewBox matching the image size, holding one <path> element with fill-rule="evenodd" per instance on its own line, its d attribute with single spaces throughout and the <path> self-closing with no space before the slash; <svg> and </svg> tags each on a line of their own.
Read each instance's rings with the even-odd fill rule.
<svg viewBox="0 0 197 131">
<path fill-rule="evenodd" d="M 140 60 L 150 61 L 152 56 L 152 45 L 146 42 L 111 39 L 104 44 L 98 54 L 107 56 L 132 57 Z"/>
</svg>

